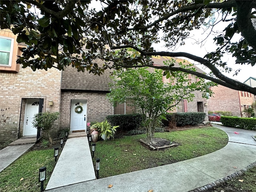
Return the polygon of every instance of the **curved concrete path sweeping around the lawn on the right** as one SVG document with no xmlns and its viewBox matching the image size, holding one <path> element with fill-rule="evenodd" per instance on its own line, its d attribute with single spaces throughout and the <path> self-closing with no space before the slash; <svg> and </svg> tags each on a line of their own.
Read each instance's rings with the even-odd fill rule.
<svg viewBox="0 0 256 192">
<path fill-rule="evenodd" d="M 214 125 L 215 126 L 215 125 Z M 255 131 L 216 126 L 229 136 L 228 144 L 213 153 L 122 175 L 64 186 L 47 192 L 186 192 L 226 177 L 256 161 Z M 235 134 L 238 132 L 239 134 Z M 236 169 L 233 167 L 237 167 Z M 112 184 L 112 188 L 108 185 Z"/>
</svg>

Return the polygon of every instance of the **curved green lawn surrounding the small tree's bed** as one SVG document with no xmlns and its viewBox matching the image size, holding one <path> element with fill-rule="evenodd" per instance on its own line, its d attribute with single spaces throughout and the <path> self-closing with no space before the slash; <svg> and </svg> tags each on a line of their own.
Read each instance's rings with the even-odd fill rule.
<svg viewBox="0 0 256 192">
<path fill-rule="evenodd" d="M 218 128 L 156 133 L 179 146 L 152 151 L 139 142 L 144 134 L 96 143 L 95 159 L 100 158 L 100 178 L 171 164 L 202 156 L 226 146 L 228 136 Z"/>
</svg>

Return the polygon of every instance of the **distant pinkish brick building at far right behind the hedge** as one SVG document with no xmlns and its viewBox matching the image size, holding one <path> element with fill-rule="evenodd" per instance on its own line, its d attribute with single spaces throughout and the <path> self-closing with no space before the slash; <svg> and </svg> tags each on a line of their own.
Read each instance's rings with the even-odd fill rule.
<svg viewBox="0 0 256 192">
<path fill-rule="evenodd" d="M 208 101 L 209 111 L 230 111 L 233 116 L 244 117 L 244 108 L 251 108 L 254 102 L 255 96 L 248 92 L 232 90 L 221 85 L 214 86 L 211 90 L 214 95 Z"/>
</svg>

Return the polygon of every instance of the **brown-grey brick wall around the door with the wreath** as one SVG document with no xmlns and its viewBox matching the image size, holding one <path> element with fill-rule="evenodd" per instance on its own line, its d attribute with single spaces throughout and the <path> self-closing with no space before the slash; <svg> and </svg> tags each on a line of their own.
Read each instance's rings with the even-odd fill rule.
<svg viewBox="0 0 256 192">
<path fill-rule="evenodd" d="M 102 122 L 114 108 L 105 93 L 62 91 L 60 104 L 60 130 L 70 128 L 71 100 L 87 101 L 87 122 Z"/>
</svg>

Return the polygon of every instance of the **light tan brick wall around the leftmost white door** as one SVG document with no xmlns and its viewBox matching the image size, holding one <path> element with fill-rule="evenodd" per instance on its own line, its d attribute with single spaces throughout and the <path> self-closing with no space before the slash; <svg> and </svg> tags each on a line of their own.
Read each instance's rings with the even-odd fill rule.
<svg viewBox="0 0 256 192">
<path fill-rule="evenodd" d="M 0 124 L 0 142 L 22 136 L 27 99 L 43 98 L 44 111 L 60 110 L 60 77 L 61 72 L 54 68 L 33 72 L 31 68 L 20 66 L 18 73 L 0 71 L 0 108 L 10 108 L 5 114 L 10 118 Z M 53 101 L 53 106 L 48 105 L 49 100 Z"/>
</svg>

